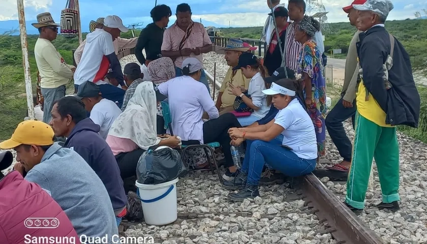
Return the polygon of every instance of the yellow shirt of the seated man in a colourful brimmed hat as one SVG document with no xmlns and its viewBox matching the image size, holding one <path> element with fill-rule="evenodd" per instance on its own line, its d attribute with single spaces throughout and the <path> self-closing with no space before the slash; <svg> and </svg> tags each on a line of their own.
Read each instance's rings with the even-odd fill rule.
<svg viewBox="0 0 427 244">
<path fill-rule="evenodd" d="M 227 108 L 233 106 L 234 100 L 236 96 L 229 94 L 228 88 L 230 88 L 229 82 L 234 86 L 245 86 L 245 89 L 249 88 L 249 82 L 251 79 L 247 79 L 242 73 L 241 70 L 238 69 L 236 74 L 233 76 L 233 68 L 230 67 L 225 75 L 224 81 L 221 85 L 220 93 L 223 93 L 221 97 L 221 108 Z"/>
</svg>

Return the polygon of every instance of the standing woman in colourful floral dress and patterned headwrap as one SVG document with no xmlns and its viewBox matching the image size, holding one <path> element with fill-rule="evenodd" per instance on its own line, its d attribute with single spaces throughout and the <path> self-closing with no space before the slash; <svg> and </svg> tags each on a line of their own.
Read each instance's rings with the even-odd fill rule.
<svg viewBox="0 0 427 244">
<path fill-rule="evenodd" d="M 298 57 L 297 73 L 304 80 L 304 97 L 316 131 L 320 158 L 325 155 L 326 90 L 322 53 L 313 40 L 314 35 L 319 30 L 320 23 L 317 20 L 313 17 L 304 16 L 296 27 L 295 41 L 302 44 Z"/>
</svg>

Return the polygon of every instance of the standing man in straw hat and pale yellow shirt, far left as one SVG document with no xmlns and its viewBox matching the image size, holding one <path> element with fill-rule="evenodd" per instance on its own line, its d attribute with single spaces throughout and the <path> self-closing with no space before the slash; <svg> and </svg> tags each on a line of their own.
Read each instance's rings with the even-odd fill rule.
<svg viewBox="0 0 427 244">
<path fill-rule="evenodd" d="M 40 36 L 34 46 L 37 69 L 41 77 L 40 86 L 44 98 L 43 122 L 49 123 L 53 101 L 65 97 L 65 85 L 73 79 L 76 67 L 67 65 L 64 58 L 56 51 L 52 41 L 56 39 L 60 25 L 53 21 L 50 13 L 37 15 L 37 23 L 32 23 L 39 29 Z"/>
</svg>

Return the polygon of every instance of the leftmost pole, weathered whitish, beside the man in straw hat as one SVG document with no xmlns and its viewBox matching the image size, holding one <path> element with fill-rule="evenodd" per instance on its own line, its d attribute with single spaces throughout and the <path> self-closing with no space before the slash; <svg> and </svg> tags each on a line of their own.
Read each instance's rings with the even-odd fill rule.
<svg viewBox="0 0 427 244">
<path fill-rule="evenodd" d="M 24 3 L 23 3 L 23 0 L 17 0 L 16 2 L 18 3 L 19 31 L 20 31 L 20 37 L 21 37 L 22 64 L 24 67 L 25 92 L 27 97 L 28 117 L 30 119 L 34 119 L 33 87 L 31 85 L 31 73 L 29 72 L 28 43 L 26 39 Z"/>
</svg>

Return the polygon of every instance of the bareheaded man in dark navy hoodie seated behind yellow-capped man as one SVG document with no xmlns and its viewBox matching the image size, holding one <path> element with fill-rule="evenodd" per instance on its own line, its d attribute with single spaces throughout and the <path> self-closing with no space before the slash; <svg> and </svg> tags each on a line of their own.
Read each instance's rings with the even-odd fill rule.
<svg viewBox="0 0 427 244">
<path fill-rule="evenodd" d="M 126 215 L 127 198 L 114 155 L 98 134 L 101 127 L 86 118 L 84 104 L 72 96 L 53 104 L 50 126 L 55 136 L 67 137 L 64 147 L 76 151 L 101 178 L 110 196 L 118 226 Z"/>
</svg>

